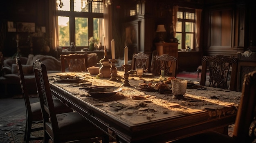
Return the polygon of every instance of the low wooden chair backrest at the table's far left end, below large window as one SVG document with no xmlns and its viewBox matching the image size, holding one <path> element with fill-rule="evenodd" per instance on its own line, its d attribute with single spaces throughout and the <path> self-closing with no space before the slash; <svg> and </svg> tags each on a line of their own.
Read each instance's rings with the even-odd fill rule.
<svg viewBox="0 0 256 143">
<path fill-rule="evenodd" d="M 61 71 L 65 72 L 65 65 L 69 72 L 87 71 L 87 54 L 68 54 L 61 55 Z"/>
</svg>

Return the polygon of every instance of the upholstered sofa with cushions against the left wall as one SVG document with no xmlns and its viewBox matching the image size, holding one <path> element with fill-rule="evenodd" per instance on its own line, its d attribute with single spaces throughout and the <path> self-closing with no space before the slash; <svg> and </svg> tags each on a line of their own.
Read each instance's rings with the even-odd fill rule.
<svg viewBox="0 0 256 143">
<path fill-rule="evenodd" d="M 61 62 L 49 55 L 32 55 L 28 57 L 19 57 L 25 77 L 27 87 L 31 94 L 36 93 L 36 82 L 34 78 L 33 62 L 40 59 L 47 67 L 47 72 L 61 72 Z M 0 84 L 4 89 L 1 95 L 16 95 L 21 94 L 20 79 L 15 58 L 5 59 L 2 67 L 2 76 L 0 77 Z"/>
</svg>

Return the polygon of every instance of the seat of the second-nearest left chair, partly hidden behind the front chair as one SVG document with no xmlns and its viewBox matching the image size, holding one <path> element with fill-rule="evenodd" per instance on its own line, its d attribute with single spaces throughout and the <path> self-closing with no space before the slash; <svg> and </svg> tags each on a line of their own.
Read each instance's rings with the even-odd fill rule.
<svg viewBox="0 0 256 143">
<path fill-rule="evenodd" d="M 56 98 L 53 98 L 54 108 L 56 114 L 66 113 L 66 112 L 73 112 L 72 109 L 65 106 L 61 101 Z M 32 111 L 32 121 L 43 121 L 42 112 L 40 102 L 31 103 L 31 111 Z"/>
</svg>

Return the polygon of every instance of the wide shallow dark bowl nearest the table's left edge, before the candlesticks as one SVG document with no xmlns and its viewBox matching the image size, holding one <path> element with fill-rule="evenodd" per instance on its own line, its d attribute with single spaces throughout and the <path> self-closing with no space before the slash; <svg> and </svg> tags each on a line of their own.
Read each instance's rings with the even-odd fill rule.
<svg viewBox="0 0 256 143">
<path fill-rule="evenodd" d="M 110 89 L 113 89 L 112 92 L 107 92 L 107 91 L 92 92 L 92 91 L 89 91 L 89 90 L 85 90 L 92 97 L 105 97 L 105 96 L 115 95 L 117 92 L 122 90 L 122 88 L 119 88 L 119 87 L 116 87 L 116 86 L 93 86 L 91 88 L 110 88 Z"/>
</svg>

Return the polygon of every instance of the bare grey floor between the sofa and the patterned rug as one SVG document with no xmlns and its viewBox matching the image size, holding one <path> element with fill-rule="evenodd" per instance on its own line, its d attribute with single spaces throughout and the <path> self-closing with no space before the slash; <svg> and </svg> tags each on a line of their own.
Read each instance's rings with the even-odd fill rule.
<svg viewBox="0 0 256 143">
<path fill-rule="evenodd" d="M 29 98 L 31 103 L 39 101 L 37 97 Z M 23 98 L 0 98 L 0 118 L 2 117 L 26 117 L 25 101 Z"/>
</svg>

